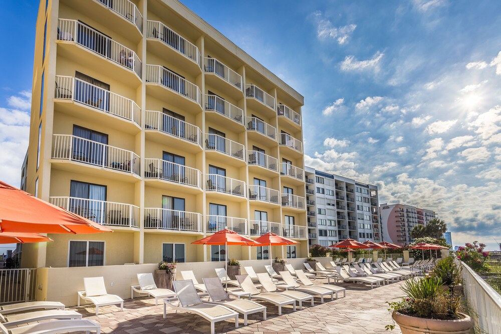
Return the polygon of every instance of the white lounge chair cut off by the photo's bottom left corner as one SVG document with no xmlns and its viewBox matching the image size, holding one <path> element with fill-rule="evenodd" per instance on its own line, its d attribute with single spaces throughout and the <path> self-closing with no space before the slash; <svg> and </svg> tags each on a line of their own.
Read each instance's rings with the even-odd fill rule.
<svg viewBox="0 0 501 334">
<path fill-rule="evenodd" d="M 89 319 L 53 320 L 11 329 L 7 329 L 0 323 L 0 333 L 2 334 L 55 334 L 74 331 L 85 331 L 87 333 L 95 331 L 96 334 L 100 334 L 101 326 Z"/>
</svg>

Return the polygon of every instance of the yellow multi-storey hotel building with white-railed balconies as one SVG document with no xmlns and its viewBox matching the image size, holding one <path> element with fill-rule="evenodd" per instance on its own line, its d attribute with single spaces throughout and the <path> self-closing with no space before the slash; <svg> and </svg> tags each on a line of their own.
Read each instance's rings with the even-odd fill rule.
<svg viewBox="0 0 501 334">
<path fill-rule="evenodd" d="M 26 189 L 113 233 L 51 234 L 23 267 L 219 261 L 191 242 L 224 228 L 308 256 L 303 96 L 179 2 L 42 0 L 33 73 Z"/>
</svg>

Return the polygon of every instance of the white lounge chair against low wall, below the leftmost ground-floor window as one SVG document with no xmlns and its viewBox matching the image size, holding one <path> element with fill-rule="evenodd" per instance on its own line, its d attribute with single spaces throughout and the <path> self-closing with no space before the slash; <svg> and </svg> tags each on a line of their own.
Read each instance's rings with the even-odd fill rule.
<svg viewBox="0 0 501 334">
<path fill-rule="evenodd" d="M 106 292 L 104 277 L 84 277 L 85 291 L 78 291 L 77 306 L 80 306 L 80 299 L 96 305 L 96 315 L 99 314 L 99 306 L 120 304 L 120 310 L 124 310 L 124 300 L 116 294 Z"/>
</svg>

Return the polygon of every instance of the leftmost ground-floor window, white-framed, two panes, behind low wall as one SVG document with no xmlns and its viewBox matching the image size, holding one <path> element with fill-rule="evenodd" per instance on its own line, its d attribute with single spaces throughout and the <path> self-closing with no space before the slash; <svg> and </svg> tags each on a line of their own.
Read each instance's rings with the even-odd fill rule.
<svg viewBox="0 0 501 334">
<path fill-rule="evenodd" d="M 69 267 L 104 265 L 104 241 L 70 240 L 68 247 Z"/>
</svg>

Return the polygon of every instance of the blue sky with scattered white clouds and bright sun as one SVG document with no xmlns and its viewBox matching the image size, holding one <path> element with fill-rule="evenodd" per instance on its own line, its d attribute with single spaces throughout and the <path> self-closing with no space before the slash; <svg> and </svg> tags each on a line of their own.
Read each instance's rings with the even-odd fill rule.
<svg viewBox="0 0 501 334">
<path fill-rule="evenodd" d="M 436 210 L 456 245 L 496 249 L 500 2 L 182 3 L 305 97 L 307 165 Z M 2 7 L 0 175 L 18 185 L 37 4 Z"/>
</svg>

